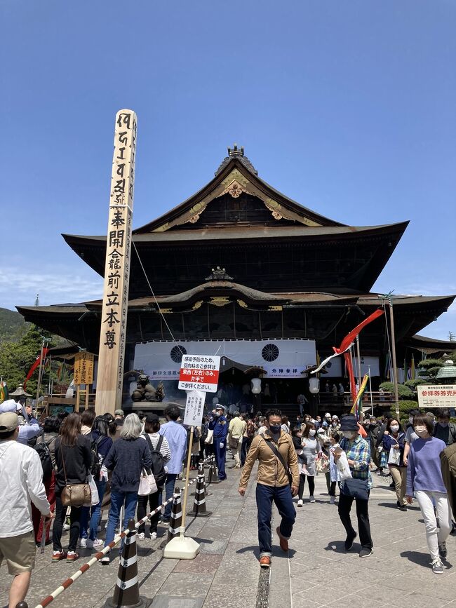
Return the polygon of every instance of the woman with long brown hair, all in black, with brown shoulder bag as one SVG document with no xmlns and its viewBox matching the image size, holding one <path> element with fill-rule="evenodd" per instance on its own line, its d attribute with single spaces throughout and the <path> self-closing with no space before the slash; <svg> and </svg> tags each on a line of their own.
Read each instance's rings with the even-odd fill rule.
<svg viewBox="0 0 456 608">
<path fill-rule="evenodd" d="M 74 562 L 79 558 L 76 543 L 79 539 L 81 506 L 70 507 L 68 552 L 62 550 L 62 526 L 67 508 L 62 505 L 62 489 L 72 483 L 86 483 L 90 472 L 90 439 L 81 435 L 81 417 L 69 414 L 60 428 L 60 437 L 55 440 L 55 520 L 53 527 L 53 562 L 67 558 Z"/>
</svg>

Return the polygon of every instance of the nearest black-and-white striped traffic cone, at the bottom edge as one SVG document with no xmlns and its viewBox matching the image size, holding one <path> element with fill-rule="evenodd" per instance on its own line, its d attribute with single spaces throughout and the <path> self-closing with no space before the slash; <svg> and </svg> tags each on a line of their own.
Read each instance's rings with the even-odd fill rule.
<svg viewBox="0 0 456 608">
<path fill-rule="evenodd" d="M 152 600 L 140 596 L 135 520 L 128 521 L 128 529 L 130 534 L 123 541 L 114 596 L 107 600 L 105 608 L 146 608 L 152 603 Z"/>
</svg>

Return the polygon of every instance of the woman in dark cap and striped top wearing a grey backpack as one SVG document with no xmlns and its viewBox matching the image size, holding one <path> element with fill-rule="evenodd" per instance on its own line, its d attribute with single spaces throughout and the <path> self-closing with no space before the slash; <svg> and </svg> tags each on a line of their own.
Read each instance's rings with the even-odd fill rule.
<svg viewBox="0 0 456 608">
<path fill-rule="evenodd" d="M 163 464 L 165 465 L 171 459 L 171 452 L 168 444 L 168 440 L 164 435 L 160 435 L 160 420 L 156 414 L 146 414 L 146 420 L 144 424 L 144 433 L 141 437 L 149 444 L 149 450 L 153 455 L 153 452 L 160 452 L 163 457 Z M 158 458 L 158 454 L 157 454 Z M 142 520 L 147 513 L 154 511 L 159 506 L 159 498 L 163 488 L 159 489 L 149 496 L 138 496 L 138 521 Z M 149 510 L 147 511 L 147 504 L 149 504 Z M 150 538 L 156 539 L 156 533 L 158 529 L 160 513 L 157 513 L 150 518 Z M 145 524 L 140 525 L 138 528 L 138 540 L 143 541 L 145 539 L 146 526 Z"/>
</svg>

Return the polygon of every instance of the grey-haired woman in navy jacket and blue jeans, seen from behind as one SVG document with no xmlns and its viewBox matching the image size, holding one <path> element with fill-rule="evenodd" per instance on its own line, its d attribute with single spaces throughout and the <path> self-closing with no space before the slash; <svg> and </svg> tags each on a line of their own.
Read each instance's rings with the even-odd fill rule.
<svg viewBox="0 0 456 608">
<path fill-rule="evenodd" d="M 138 504 L 138 489 L 142 468 L 152 467 L 147 441 L 140 438 L 142 423 L 136 414 L 128 414 L 123 421 L 120 437 L 114 442 L 105 460 L 106 468 L 112 471 L 111 508 L 107 520 L 105 547 L 114 539 L 119 525 L 121 508 L 125 507 L 123 528 L 135 517 Z M 109 555 L 100 560 L 109 564 Z"/>
</svg>

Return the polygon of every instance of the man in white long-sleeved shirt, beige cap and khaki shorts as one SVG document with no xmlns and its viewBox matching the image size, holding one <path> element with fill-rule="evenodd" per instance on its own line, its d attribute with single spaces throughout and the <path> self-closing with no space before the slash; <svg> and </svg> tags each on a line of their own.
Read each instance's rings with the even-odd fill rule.
<svg viewBox="0 0 456 608">
<path fill-rule="evenodd" d="M 10 608 L 25 600 L 35 566 L 30 501 L 46 520 L 53 518 L 38 452 L 18 442 L 18 426 L 15 412 L 0 414 L 1 492 L 8 497 L 0 510 L 0 565 L 6 560 L 8 573 L 14 576 L 9 590 Z"/>
</svg>

